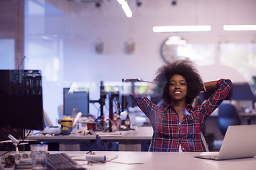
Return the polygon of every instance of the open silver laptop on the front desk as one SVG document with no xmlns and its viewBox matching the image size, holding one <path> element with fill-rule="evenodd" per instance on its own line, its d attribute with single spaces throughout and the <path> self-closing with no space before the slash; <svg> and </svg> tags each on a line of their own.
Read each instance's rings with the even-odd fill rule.
<svg viewBox="0 0 256 170">
<path fill-rule="evenodd" d="M 196 158 L 224 160 L 256 156 L 256 125 L 230 125 L 218 154 L 204 152 Z"/>
</svg>

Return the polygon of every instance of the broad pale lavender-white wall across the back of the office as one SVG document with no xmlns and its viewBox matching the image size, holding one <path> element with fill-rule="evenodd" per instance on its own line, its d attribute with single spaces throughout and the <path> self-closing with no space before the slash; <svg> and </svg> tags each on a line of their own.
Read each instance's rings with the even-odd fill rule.
<svg viewBox="0 0 256 170">
<path fill-rule="evenodd" d="M 218 43 L 255 42 L 255 31 L 225 32 L 224 24 L 247 24 L 256 21 L 254 0 L 183 0 L 171 6 L 170 1 L 129 1 L 133 11 L 127 18 L 117 1 L 92 2 L 26 1 L 42 10 L 26 13 L 26 68 L 43 69 L 44 108 L 55 123 L 58 106 L 62 104 L 62 88 L 73 81 L 90 84 L 90 97 L 99 98 L 100 81 L 121 81 L 123 78 L 154 79 L 156 70 L 164 64 L 159 48 L 169 35 L 180 35 L 189 43 L 216 45 L 215 63 L 219 63 Z M 50 4 L 51 3 L 51 4 Z M 46 8 L 47 7 L 47 8 Z M 210 25 L 210 32 L 154 33 L 153 26 Z M 124 52 L 125 42 L 135 42 L 132 55 Z M 102 54 L 95 44 L 103 42 Z M 215 67 L 200 69 L 204 80 L 222 78 L 213 75 Z M 230 75 L 230 74 L 228 74 Z M 232 74 L 231 74 L 232 75 Z M 236 76 L 234 76 L 236 77 Z M 242 78 L 241 78 L 242 79 Z M 238 79 L 238 81 L 241 81 Z M 242 79 L 243 81 L 244 79 Z M 96 105 L 96 107 L 98 107 Z M 97 112 L 91 106 L 92 112 Z"/>
</svg>

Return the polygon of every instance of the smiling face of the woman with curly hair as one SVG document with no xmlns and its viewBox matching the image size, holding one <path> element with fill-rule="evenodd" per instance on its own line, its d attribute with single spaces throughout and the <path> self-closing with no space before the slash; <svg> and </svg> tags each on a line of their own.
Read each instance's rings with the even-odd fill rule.
<svg viewBox="0 0 256 170">
<path fill-rule="evenodd" d="M 169 83 L 169 95 L 171 96 L 172 102 L 186 102 L 187 89 L 186 79 L 183 76 L 174 74 L 174 76 L 171 77 Z"/>
</svg>

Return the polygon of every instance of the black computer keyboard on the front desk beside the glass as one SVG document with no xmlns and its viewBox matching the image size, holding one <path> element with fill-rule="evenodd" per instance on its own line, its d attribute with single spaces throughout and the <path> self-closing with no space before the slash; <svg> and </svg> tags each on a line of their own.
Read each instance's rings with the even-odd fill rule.
<svg viewBox="0 0 256 170">
<path fill-rule="evenodd" d="M 65 153 L 48 154 L 46 164 L 50 170 L 82 170 L 80 164 Z"/>
</svg>

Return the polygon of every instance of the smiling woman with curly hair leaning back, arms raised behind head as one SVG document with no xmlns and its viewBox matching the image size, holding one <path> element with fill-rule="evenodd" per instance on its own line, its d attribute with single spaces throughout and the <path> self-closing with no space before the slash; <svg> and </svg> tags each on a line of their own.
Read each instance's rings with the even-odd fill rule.
<svg viewBox="0 0 256 170">
<path fill-rule="evenodd" d="M 127 79 L 127 81 L 139 81 Z M 201 139 L 201 129 L 206 118 L 228 96 L 232 82 L 220 79 L 204 83 L 198 71 L 188 60 L 177 61 L 161 67 L 154 80 L 164 82 L 163 104 L 157 106 L 142 94 L 132 94 L 132 99 L 149 118 L 154 130 L 150 151 L 202 152 L 206 151 Z M 200 106 L 191 106 L 200 91 L 214 93 Z"/>
</svg>

